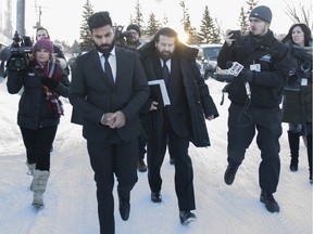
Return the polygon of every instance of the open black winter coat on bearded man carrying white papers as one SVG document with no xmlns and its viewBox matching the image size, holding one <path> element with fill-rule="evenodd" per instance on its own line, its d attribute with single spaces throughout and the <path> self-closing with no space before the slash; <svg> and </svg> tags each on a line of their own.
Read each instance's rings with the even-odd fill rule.
<svg viewBox="0 0 313 234">
<path fill-rule="evenodd" d="M 210 146 L 210 139 L 205 126 L 205 117 L 213 115 L 218 116 L 216 106 L 210 95 L 208 86 L 204 79 L 201 77 L 199 69 L 196 65 L 196 56 L 198 50 L 177 43 L 174 52 L 174 56 L 178 61 L 177 74 L 183 79 L 183 93 L 184 100 L 178 100 L 179 104 L 170 105 L 167 107 L 168 113 L 176 116 L 176 122 L 172 125 L 179 126 L 179 123 L 186 122 L 188 119 L 188 127 L 190 132 L 190 141 L 199 147 Z M 139 49 L 140 61 L 145 68 L 148 81 L 160 79 L 158 72 L 153 68 L 153 61 L 155 63 L 156 49 L 154 42 L 151 41 Z M 158 61 L 156 61 L 158 63 Z M 163 76 L 162 76 L 163 77 Z M 178 88 L 177 88 L 178 89 Z M 178 91 L 177 91 L 178 92 Z M 180 91 L 179 91 L 180 92 Z M 159 93 L 153 92 L 150 89 L 150 98 L 142 107 L 141 121 L 146 136 L 149 139 L 158 138 L 158 132 L 163 127 L 162 113 L 159 110 L 151 110 L 149 108 L 153 101 L 161 102 Z M 171 98 L 171 96 L 170 96 Z M 180 115 L 179 115 L 180 113 Z M 185 119 L 185 120 L 184 120 Z M 181 126 L 181 129 L 176 129 L 176 134 L 183 135 L 186 126 Z M 172 126 L 173 127 L 173 126 Z M 186 132 L 185 132 L 186 133 Z"/>
</svg>

